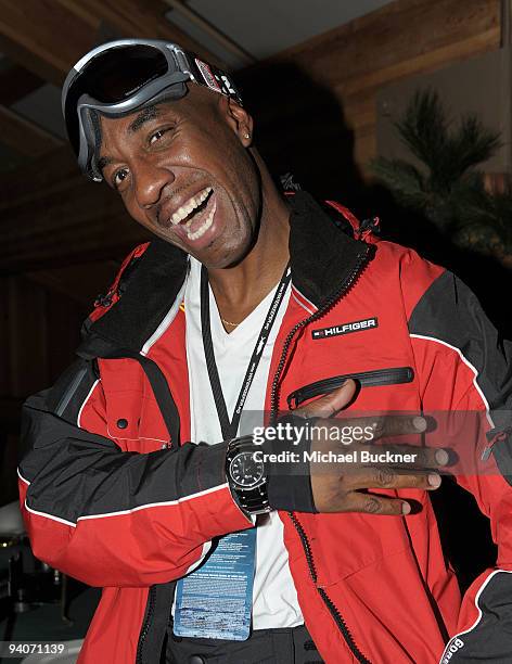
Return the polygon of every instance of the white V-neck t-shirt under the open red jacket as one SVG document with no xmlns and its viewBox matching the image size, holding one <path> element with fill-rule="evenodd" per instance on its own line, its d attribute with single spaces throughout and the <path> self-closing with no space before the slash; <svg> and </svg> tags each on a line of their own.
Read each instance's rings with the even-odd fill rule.
<svg viewBox="0 0 512 664">
<path fill-rule="evenodd" d="M 220 320 L 217 303 L 209 289 L 212 341 L 222 394 L 230 419 L 239 398 L 245 372 L 272 302 L 277 286 L 228 334 Z M 290 298 L 291 286 L 281 302 L 259 366 L 247 394 L 239 434 L 251 433 L 264 423 L 265 394 L 279 328 Z M 201 263 L 190 258 L 184 294 L 187 320 L 187 361 L 190 381 L 191 440 L 214 444 L 222 440 L 219 418 L 203 348 L 201 330 Z M 249 431 L 244 431 L 244 420 Z M 295 627 L 304 623 L 297 592 L 289 567 L 283 542 L 283 524 L 277 512 L 258 518 L 256 538 L 256 574 L 253 589 L 253 629 Z"/>
</svg>

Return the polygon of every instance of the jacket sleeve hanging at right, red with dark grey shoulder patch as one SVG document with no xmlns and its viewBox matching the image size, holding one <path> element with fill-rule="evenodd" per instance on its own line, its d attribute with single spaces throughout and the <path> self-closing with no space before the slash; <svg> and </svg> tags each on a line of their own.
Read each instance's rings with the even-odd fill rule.
<svg viewBox="0 0 512 664">
<path fill-rule="evenodd" d="M 512 344 L 463 282 L 449 271 L 433 274 L 424 263 L 413 258 L 402 281 L 422 405 L 446 418 L 445 434 L 459 417 L 448 436 L 456 480 L 490 519 L 498 545 L 496 567 L 466 591 L 440 661 L 512 662 Z"/>
</svg>

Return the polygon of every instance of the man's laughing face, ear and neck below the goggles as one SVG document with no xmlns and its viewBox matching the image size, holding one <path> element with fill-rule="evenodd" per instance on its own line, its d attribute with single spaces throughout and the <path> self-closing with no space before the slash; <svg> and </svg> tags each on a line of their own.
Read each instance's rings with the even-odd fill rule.
<svg viewBox="0 0 512 664">
<path fill-rule="evenodd" d="M 290 209 L 249 150 L 251 116 L 191 86 L 172 103 L 99 123 L 102 177 L 133 219 L 208 268 L 221 317 L 243 320 L 289 260 Z"/>
</svg>

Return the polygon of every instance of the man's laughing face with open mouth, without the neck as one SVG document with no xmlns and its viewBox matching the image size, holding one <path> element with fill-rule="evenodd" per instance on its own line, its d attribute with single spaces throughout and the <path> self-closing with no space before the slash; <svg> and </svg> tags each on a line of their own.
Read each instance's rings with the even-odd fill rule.
<svg viewBox="0 0 512 664">
<path fill-rule="evenodd" d="M 103 177 L 136 221 L 208 268 L 244 257 L 261 187 L 241 106 L 191 85 L 180 100 L 100 123 Z"/>
</svg>

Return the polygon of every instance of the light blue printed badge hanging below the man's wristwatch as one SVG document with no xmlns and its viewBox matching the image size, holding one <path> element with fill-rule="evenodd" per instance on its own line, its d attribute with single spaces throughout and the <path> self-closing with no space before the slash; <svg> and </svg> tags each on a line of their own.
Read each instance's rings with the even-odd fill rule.
<svg viewBox="0 0 512 664">
<path fill-rule="evenodd" d="M 176 636 L 245 641 L 255 560 L 256 528 L 221 537 L 206 562 L 176 586 Z"/>
</svg>

